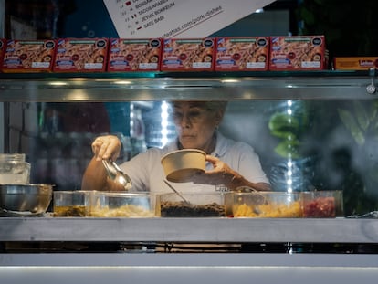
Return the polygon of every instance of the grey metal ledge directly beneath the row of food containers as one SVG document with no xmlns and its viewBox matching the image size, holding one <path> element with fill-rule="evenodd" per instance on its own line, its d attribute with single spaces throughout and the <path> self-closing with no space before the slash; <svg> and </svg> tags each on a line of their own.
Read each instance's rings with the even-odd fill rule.
<svg viewBox="0 0 378 284">
<path fill-rule="evenodd" d="M 5 217 L 0 241 L 377 243 L 378 220 Z"/>
</svg>

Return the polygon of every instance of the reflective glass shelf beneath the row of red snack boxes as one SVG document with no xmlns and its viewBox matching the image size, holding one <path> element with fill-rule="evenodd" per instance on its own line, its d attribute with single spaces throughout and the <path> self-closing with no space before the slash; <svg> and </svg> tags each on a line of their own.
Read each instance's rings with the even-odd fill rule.
<svg viewBox="0 0 378 284">
<path fill-rule="evenodd" d="M 375 71 L 331 70 L 0 74 L 0 101 L 372 100 L 374 79 Z"/>
</svg>

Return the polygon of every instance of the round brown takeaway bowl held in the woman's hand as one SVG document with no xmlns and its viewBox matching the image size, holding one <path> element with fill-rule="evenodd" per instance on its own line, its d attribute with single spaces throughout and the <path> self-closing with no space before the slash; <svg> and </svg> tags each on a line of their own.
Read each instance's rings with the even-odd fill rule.
<svg viewBox="0 0 378 284">
<path fill-rule="evenodd" d="M 167 153 L 162 158 L 164 174 L 168 181 L 188 182 L 194 174 L 205 171 L 205 152 L 184 149 Z"/>
</svg>

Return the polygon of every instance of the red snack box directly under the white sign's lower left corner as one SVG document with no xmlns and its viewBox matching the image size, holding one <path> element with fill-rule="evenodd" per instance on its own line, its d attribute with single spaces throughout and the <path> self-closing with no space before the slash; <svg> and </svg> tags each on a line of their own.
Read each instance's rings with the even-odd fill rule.
<svg viewBox="0 0 378 284">
<path fill-rule="evenodd" d="M 110 38 L 108 71 L 159 71 L 162 40 Z"/>
</svg>

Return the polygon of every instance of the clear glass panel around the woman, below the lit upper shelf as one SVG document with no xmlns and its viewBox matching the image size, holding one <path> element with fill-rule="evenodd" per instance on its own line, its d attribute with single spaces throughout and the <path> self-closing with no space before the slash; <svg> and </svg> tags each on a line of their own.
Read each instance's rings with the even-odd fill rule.
<svg viewBox="0 0 378 284">
<path fill-rule="evenodd" d="M 123 144 L 119 163 L 175 137 L 163 100 L 11 103 L 9 152 L 31 183 L 80 189 L 97 135 Z M 253 146 L 273 190 L 342 190 L 346 215 L 378 205 L 378 100 L 230 100 L 219 131 Z"/>
</svg>

